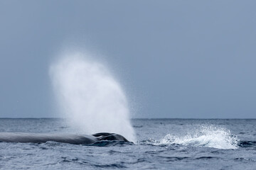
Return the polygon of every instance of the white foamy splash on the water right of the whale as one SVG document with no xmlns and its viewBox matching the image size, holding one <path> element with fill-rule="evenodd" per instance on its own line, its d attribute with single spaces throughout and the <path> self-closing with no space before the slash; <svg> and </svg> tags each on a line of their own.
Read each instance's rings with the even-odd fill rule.
<svg viewBox="0 0 256 170">
<path fill-rule="evenodd" d="M 159 145 L 191 145 L 193 147 L 214 147 L 218 149 L 237 149 L 238 137 L 230 130 L 214 125 L 202 125 L 195 132 L 188 132 L 185 136 L 166 135 Z"/>
</svg>

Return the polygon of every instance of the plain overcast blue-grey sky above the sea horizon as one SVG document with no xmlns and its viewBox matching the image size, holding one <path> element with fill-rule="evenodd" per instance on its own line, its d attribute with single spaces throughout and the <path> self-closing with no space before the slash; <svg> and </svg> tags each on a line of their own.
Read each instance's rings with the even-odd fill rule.
<svg viewBox="0 0 256 170">
<path fill-rule="evenodd" d="M 104 56 L 132 118 L 256 118 L 256 1 L 0 1 L 0 118 L 54 117 L 49 66 Z"/>
</svg>

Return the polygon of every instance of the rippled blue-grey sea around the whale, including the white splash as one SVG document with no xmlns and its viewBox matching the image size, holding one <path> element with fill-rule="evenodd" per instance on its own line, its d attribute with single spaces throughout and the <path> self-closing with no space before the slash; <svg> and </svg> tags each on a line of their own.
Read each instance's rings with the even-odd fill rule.
<svg viewBox="0 0 256 170">
<path fill-rule="evenodd" d="M 256 120 L 134 119 L 132 125 L 136 143 L 0 142 L 0 169 L 256 169 Z M 0 132 L 74 130 L 63 119 L 0 119 Z"/>
</svg>

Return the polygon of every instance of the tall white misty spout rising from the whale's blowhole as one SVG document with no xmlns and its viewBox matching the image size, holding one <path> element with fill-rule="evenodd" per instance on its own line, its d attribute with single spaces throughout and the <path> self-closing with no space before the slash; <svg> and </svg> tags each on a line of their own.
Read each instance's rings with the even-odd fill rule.
<svg viewBox="0 0 256 170">
<path fill-rule="evenodd" d="M 82 53 L 50 66 L 60 113 L 82 132 L 116 132 L 135 142 L 127 98 L 109 69 Z"/>
</svg>

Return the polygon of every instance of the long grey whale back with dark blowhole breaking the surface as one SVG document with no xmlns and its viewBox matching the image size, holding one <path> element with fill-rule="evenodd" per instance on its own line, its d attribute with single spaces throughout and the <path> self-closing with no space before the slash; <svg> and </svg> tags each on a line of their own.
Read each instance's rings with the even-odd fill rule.
<svg viewBox="0 0 256 170">
<path fill-rule="evenodd" d="M 44 143 L 53 141 L 79 145 L 93 144 L 101 140 L 118 140 L 129 142 L 122 135 L 108 132 L 100 132 L 93 135 L 78 135 L 71 133 L 0 132 L 0 142 Z"/>
</svg>

